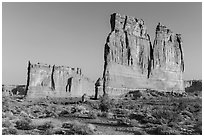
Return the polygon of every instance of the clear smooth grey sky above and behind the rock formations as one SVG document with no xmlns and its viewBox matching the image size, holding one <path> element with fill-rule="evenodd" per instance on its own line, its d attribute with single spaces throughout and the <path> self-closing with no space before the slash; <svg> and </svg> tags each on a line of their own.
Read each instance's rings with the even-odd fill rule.
<svg viewBox="0 0 204 137">
<path fill-rule="evenodd" d="M 202 79 L 201 3 L 3 3 L 2 83 L 26 84 L 29 60 L 101 77 L 114 12 L 142 18 L 152 43 L 158 22 L 182 34 L 184 79 Z"/>
</svg>

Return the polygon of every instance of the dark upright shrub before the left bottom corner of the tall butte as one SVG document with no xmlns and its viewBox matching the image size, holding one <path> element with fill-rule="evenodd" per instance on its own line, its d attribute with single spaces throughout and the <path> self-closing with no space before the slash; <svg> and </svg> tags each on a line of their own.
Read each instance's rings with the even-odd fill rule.
<svg viewBox="0 0 204 137">
<path fill-rule="evenodd" d="M 108 112 L 111 107 L 110 103 L 110 98 L 108 97 L 108 94 L 105 94 L 101 99 L 100 99 L 100 105 L 99 108 L 101 111 Z"/>
</svg>

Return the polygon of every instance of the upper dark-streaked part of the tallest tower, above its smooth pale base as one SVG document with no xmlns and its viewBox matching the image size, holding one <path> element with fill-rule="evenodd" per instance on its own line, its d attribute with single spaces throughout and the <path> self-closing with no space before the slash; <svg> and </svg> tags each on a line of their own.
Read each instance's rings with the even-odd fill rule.
<svg viewBox="0 0 204 137">
<path fill-rule="evenodd" d="M 135 66 L 147 74 L 151 43 L 144 21 L 114 13 L 110 22 L 112 31 L 105 45 L 105 63 Z"/>
</svg>

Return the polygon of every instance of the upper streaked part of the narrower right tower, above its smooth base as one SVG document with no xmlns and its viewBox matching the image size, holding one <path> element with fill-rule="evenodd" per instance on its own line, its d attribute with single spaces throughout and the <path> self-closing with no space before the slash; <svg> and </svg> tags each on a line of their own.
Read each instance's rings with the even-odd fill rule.
<svg viewBox="0 0 204 137">
<path fill-rule="evenodd" d="M 154 68 L 166 71 L 184 71 L 181 35 L 174 34 L 160 23 L 154 41 Z"/>
</svg>

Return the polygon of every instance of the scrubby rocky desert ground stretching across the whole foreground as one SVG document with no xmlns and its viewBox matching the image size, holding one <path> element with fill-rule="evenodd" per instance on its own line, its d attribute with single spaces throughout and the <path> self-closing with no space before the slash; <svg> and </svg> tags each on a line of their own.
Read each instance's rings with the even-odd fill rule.
<svg viewBox="0 0 204 137">
<path fill-rule="evenodd" d="M 3 96 L 2 133 L 31 135 L 200 135 L 201 91 L 135 91 L 120 99 L 26 100 Z"/>
</svg>

